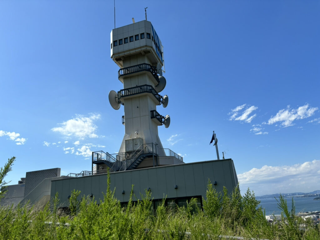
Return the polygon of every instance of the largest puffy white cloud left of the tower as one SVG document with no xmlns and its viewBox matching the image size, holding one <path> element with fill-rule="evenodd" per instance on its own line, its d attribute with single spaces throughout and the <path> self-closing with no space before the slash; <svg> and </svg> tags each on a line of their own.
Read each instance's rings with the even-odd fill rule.
<svg viewBox="0 0 320 240">
<path fill-rule="evenodd" d="M 54 127 L 51 130 L 65 136 L 79 137 L 80 139 L 85 137 L 97 138 L 98 135 L 95 132 L 98 127 L 93 123 L 97 119 L 100 119 L 100 114 L 91 114 L 89 117 L 76 115 L 75 118 L 60 123 L 61 127 Z"/>
</svg>

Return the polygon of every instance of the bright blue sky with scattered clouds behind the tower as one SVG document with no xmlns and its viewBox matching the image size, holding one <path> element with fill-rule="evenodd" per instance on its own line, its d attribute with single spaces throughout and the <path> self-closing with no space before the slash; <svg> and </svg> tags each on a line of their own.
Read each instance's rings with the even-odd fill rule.
<svg viewBox="0 0 320 240">
<path fill-rule="evenodd" d="M 164 148 L 196 162 L 232 158 L 257 196 L 319 189 L 319 1 L 116 1 L 116 27 L 145 19 L 164 46 Z M 0 164 L 91 169 L 116 153 L 124 109 L 110 58 L 113 1 L 0 2 Z"/>
</svg>

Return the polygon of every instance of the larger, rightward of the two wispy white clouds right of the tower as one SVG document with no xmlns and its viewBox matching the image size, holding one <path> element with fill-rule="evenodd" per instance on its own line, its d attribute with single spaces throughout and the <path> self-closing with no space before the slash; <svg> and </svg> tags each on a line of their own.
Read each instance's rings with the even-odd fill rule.
<svg viewBox="0 0 320 240">
<path fill-rule="evenodd" d="M 316 110 L 318 110 L 318 108 L 309 108 L 309 104 L 305 104 L 297 109 L 291 109 L 290 106 L 287 106 L 287 109 L 279 110 L 276 116 L 271 116 L 271 118 L 268 120 L 268 124 L 271 125 L 281 122 L 281 126 L 289 127 L 294 125 L 294 120 L 310 117 L 314 115 Z"/>
</svg>

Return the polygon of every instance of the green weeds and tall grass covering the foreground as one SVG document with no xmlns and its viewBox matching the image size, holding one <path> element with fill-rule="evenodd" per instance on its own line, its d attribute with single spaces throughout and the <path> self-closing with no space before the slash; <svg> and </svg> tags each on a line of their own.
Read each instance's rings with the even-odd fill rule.
<svg viewBox="0 0 320 240">
<path fill-rule="evenodd" d="M 109 186 L 109 180 L 108 180 Z M 319 225 L 295 216 L 280 196 L 278 206 L 282 221 L 273 224 L 265 219 L 259 201 L 249 189 L 244 196 L 236 187 L 228 194 L 217 193 L 209 182 L 203 209 L 196 199 L 186 207 L 166 207 L 164 201 L 152 209 L 152 193 L 142 200 L 131 200 L 126 207 L 106 189 L 100 204 L 90 197 L 77 201 L 79 191 L 69 199 L 68 214 L 59 212 L 56 195 L 43 209 L 18 205 L 0 209 L 0 239 L 219 239 L 219 236 L 242 236 L 263 239 L 319 239 Z M 49 224 L 48 222 L 51 222 Z M 66 226 L 65 223 L 68 223 Z M 302 225 L 303 224 L 303 225 Z M 303 226 L 303 228 L 301 228 Z"/>
</svg>

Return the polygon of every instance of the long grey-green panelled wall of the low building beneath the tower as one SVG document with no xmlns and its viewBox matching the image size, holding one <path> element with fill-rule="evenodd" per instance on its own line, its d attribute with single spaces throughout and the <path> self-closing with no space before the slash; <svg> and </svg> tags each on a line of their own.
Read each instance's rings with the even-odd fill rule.
<svg viewBox="0 0 320 240">
<path fill-rule="evenodd" d="M 62 206 L 68 205 L 68 196 L 80 190 L 81 196 L 91 193 L 99 203 L 107 189 L 107 174 L 98 174 L 81 178 L 52 180 L 51 197 L 58 192 Z M 128 202 L 131 186 L 133 194 L 140 198 L 140 192 L 150 188 L 154 199 L 177 198 L 187 196 L 205 197 L 208 179 L 217 181 L 214 187 L 222 192 L 223 186 L 231 192 L 238 180 L 232 159 L 160 166 L 110 173 L 110 189 L 115 190 L 115 197 L 120 202 Z M 174 186 L 178 188 L 175 189 Z M 122 191 L 124 190 L 124 194 Z"/>
</svg>

